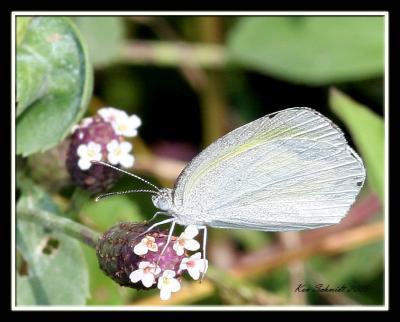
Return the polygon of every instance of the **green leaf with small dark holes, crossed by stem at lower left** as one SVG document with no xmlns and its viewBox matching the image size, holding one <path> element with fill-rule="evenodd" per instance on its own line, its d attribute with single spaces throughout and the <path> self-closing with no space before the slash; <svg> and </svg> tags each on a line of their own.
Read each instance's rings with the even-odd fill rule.
<svg viewBox="0 0 400 322">
<path fill-rule="evenodd" d="M 22 209 L 58 210 L 36 186 L 21 185 Z M 16 246 L 27 268 L 16 275 L 17 305 L 82 305 L 89 296 L 89 275 L 78 241 L 23 220 L 16 224 Z"/>
</svg>

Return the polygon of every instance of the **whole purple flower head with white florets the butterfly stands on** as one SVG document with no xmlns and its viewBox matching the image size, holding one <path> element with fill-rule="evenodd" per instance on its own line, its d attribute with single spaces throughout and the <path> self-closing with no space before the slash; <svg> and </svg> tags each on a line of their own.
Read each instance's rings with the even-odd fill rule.
<svg viewBox="0 0 400 322">
<path fill-rule="evenodd" d="M 186 227 L 179 237 L 172 236 L 167 247 L 168 232 L 157 229 L 147 232 L 148 227 L 130 222 L 111 227 L 97 243 L 100 268 L 122 286 L 158 288 L 160 298 L 168 300 L 180 290 L 184 272 L 195 280 L 205 274 L 207 260 L 200 252 L 188 254 L 200 248 L 194 240 L 198 235 L 195 226 Z"/>
</svg>

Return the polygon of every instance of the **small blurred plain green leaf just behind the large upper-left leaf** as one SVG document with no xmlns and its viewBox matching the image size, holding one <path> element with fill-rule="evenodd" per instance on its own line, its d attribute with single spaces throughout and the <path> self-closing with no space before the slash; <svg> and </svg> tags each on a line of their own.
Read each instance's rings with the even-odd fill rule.
<svg viewBox="0 0 400 322">
<path fill-rule="evenodd" d="M 121 17 L 76 17 L 96 67 L 115 62 L 121 52 L 125 29 Z"/>
</svg>

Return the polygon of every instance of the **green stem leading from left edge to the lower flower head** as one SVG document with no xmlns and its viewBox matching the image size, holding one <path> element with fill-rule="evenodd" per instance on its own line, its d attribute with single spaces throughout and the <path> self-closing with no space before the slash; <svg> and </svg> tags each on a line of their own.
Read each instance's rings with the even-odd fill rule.
<svg viewBox="0 0 400 322">
<path fill-rule="evenodd" d="M 52 231 L 60 232 L 95 248 L 100 234 L 89 227 L 51 212 L 26 208 L 18 209 L 18 219 L 34 222 Z"/>
</svg>

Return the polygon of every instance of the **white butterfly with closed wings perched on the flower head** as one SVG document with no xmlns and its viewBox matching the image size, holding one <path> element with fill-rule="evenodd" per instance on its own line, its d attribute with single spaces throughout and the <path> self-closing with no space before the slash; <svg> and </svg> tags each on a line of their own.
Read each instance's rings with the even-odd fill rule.
<svg viewBox="0 0 400 322">
<path fill-rule="evenodd" d="M 107 163 L 97 161 L 103 165 Z M 266 115 L 224 135 L 182 171 L 173 189 L 155 190 L 159 214 L 170 216 L 152 225 L 175 224 L 262 231 L 288 231 L 337 224 L 346 216 L 365 180 L 361 158 L 343 132 L 307 107 Z M 154 218 L 153 217 L 153 218 Z"/>
</svg>

